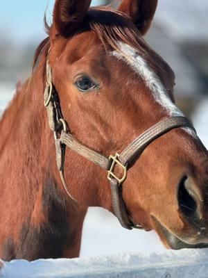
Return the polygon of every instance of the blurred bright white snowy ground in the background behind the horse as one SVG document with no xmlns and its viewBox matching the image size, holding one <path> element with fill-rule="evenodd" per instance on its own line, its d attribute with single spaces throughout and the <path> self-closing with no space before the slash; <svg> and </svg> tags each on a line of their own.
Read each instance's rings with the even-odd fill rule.
<svg viewBox="0 0 208 278">
<path fill-rule="evenodd" d="M 12 97 L 12 91 L 12 85 L 0 84 L 0 111 Z M 202 142 L 208 148 L 208 99 L 201 101 L 193 122 Z M 164 247 L 154 231 L 125 230 L 108 211 L 89 208 L 83 230 L 81 257 L 162 250 Z"/>
</svg>

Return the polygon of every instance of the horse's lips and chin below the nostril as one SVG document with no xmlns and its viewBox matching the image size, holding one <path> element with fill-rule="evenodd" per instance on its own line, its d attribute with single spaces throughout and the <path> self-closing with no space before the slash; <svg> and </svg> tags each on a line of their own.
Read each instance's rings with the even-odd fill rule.
<svg viewBox="0 0 208 278">
<path fill-rule="evenodd" d="M 186 240 L 179 238 L 171 231 L 166 229 L 164 225 L 159 222 L 156 218 L 153 220 L 155 222 L 155 230 L 159 237 L 162 240 L 162 243 L 168 248 L 173 250 L 180 250 L 184 248 L 207 248 L 208 247 L 208 236 L 201 232 L 201 236 L 199 234 L 194 238 L 187 238 Z M 199 233 L 199 232 L 198 232 Z M 195 241 L 196 243 L 191 243 Z"/>
</svg>

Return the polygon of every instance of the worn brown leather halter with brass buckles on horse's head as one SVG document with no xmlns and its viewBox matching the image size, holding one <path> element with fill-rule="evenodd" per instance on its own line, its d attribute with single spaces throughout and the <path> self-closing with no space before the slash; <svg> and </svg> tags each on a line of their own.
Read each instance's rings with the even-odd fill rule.
<svg viewBox="0 0 208 278">
<path fill-rule="evenodd" d="M 54 132 L 58 170 L 67 195 L 69 195 L 73 201 L 77 202 L 69 193 L 69 188 L 67 187 L 64 177 L 64 155 L 66 147 L 69 147 L 73 150 L 73 152 L 80 154 L 80 156 L 84 156 L 89 161 L 92 161 L 107 171 L 107 179 L 110 181 L 112 193 L 112 206 L 114 208 L 114 214 L 119 219 L 121 225 L 126 229 L 143 229 L 139 224 L 135 224 L 130 219 L 122 196 L 122 184 L 127 177 L 130 163 L 135 161 L 135 159 L 139 159 L 141 153 L 144 149 L 146 149 L 146 147 L 148 147 L 148 145 L 150 145 L 151 142 L 168 131 L 178 127 L 188 127 L 195 131 L 193 125 L 187 117 L 169 117 L 161 122 L 158 122 L 154 126 L 151 126 L 150 129 L 146 130 L 130 145 L 128 145 L 128 147 L 126 147 L 121 154 L 116 154 L 107 158 L 103 154 L 95 152 L 78 142 L 78 140 L 76 140 L 76 138 L 74 138 L 70 133 L 67 122 L 65 122 L 62 117 L 58 92 L 55 90 L 52 82 L 52 72 L 48 60 L 46 63 L 46 79 L 44 106 L 47 108 L 49 126 Z M 123 172 L 122 177 L 117 177 L 114 173 L 115 166 L 121 168 Z"/>
</svg>

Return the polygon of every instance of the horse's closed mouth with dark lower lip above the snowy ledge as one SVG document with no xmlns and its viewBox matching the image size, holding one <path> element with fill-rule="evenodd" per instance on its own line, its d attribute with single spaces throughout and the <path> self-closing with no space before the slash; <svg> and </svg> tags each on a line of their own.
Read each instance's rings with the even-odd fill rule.
<svg viewBox="0 0 208 278">
<path fill-rule="evenodd" d="M 175 234 L 168 231 L 166 227 L 163 226 L 161 222 L 159 222 L 156 218 L 154 218 L 154 222 L 159 228 L 159 236 L 162 238 L 162 241 L 166 247 L 173 249 L 173 250 L 180 250 L 184 248 L 207 248 L 208 247 L 208 239 L 202 238 L 202 242 L 205 241 L 206 243 L 197 243 L 197 244 L 190 244 L 184 242 L 182 239 L 175 236 Z"/>
</svg>

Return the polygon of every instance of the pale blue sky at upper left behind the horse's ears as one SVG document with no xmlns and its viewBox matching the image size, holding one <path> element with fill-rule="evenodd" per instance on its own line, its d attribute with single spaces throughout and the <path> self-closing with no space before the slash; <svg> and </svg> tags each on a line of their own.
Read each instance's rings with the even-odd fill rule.
<svg viewBox="0 0 208 278">
<path fill-rule="evenodd" d="M 44 38 L 43 17 L 48 6 L 48 15 L 53 10 L 54 0 L 12 0 L 2 1 L 0 9 L 0 32 L 18 42 Z M 94 0 L 96 6 L 101 0 Z M 2 38 L 2 35 L 1 35 Z M 1 42 L 0 42 L 1 43 Z"/>
</svg>

